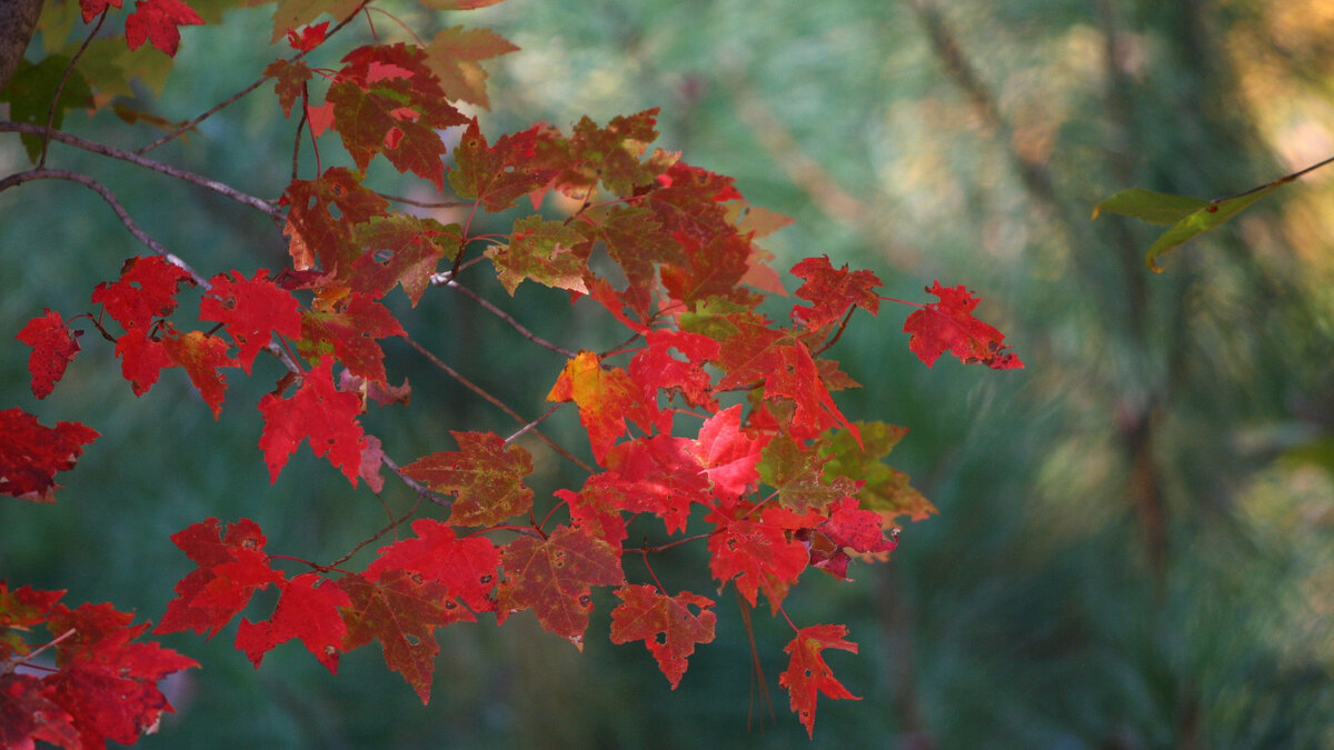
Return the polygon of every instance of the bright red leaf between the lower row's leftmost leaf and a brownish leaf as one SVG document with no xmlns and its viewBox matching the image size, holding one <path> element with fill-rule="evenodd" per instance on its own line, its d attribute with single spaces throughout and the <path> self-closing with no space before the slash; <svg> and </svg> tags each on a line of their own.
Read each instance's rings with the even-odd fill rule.
<svg viewBox="0 0 1334 750">
<path fill-rule="evenodd" d="M 316 573 L 276 583 L 281 597 L 273 617 L 259 623 L 241 618 L 236 629 L 236 647 L 245 651 L 251 663 L 259 669 L 264 654 L 275 646 L 300 638 L 321 665 L 338 674 L 339 655 L 347 637 L 339 607 L 351 606 L 352 599 L 336 583 Z"/>
</svg>

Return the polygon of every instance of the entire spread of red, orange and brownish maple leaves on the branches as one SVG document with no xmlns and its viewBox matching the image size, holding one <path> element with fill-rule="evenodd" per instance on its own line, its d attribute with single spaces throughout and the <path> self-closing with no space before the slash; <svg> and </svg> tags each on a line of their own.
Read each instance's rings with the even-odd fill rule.
<svg viewBox="0 0 1334 750">
<path fill-rule="evenodd" d="M 108 7 L 119 8 L 119 0 L 81 0 L 85 21 Z M 215 418 L 227 400 L 227 378 L 236 371 L 256 376 L 260 355 L 269 355 L 284 372 L 255 406 L 264 420 L 257 443 L 271 480 L 307 443 L 352 487 L 364 480 L 379 494 L 388 467 L 416 498 L 392 524 L 412 518 L 412 535 L 379 547 L 359 570 L 348 565 L 350 552 L 332 565 L 311 562 L 288 573 L 284 565 L 297 558 L 267 551 L 263 531 L 249 519 L 189 526 L 172 540 L 195 569 L 176 585 L 155 633 L 191 630 L 211 638 L 240 617 L 235 645 L 256 667 L 269 650 L 295 639 L 331 673 L 342 654 L 379 642 L 388 667 L 426 702 L 439 627 L 484 615 L 499 625 L 531 611 L 542 627 L 582 649 L 602 590 L 618 601 L 611 641 L 642 642 L 675 689 L 696 646 L 714 639 L 716 614 L 708 597 L 666 590 L 648 567 L 652 554 L 703 544 L 711 585 L 719 591 L 734 586 L 751 607 L 763 594 L 771 613 L 786 619 L 783 602 L 808 569 L 847 581 L 855 562 L 883 560 L 895 548 L 899 516 L 934 512 L 907 476 L 883 460 L 906 430 L 850 420 L 832 394 L 858 384 L 822 356 L 856 310 L 876 315 L 888 300 L 876 292 L 875 274 L 807 258 L 791 268 L 803 282 L 795 291 L 799 302 L 786 319 L 772 320 L 760 306 L 786 291 L 759 240 L 787 220 L 752 207 L 731 177 L 650 149 L 658 109 L 604 125 L 584 117 L 568 133 L 539 123 L 491 140 L 478 117 L 455 104 L 484 107 L 486 75 L 478 63 L 515 48 L 490 31 L 455 27 L 427 44 L 356 47 L 336 69 L 308 65 L 305 55 L 362 7 L 284 1 L 275 12 L 273 39 L 285 37 L 296 51 L 265 69 L 275 80 L 276 107 L 287 116 L 299 112 L 297 128 L 325 156 L 336 133 L 351 160 L 325 167 L 320 156 L 281 191 L 273 211 L 281 216 L 289 268 L 224 270 L 208 278 L 161 255 L 131 258 L 116 280 L 93 288 L 91 310 L 68 320 L 47 310 L 17 335 L 32 350 L 28 367 L 39 399 L 53 392 L 79 354 L 85 331 L 73 326 L 87 320 L 115 344 L 136 396 L 164 370 L 180 367 Z M 307 25 L 321 8 L 344 23 L 334 29 Z M 177 27 L 191 23 L 197 15 L 179 0 L 140 0 L 125 20 L 127 43 L 133 48 L 148 40 L 172 55 Z M 458 137 L 452 149 L 446 131 Z M 366 169 L 378 159 L 471 202 L 468 222 L 446 226 L 394 208 L 396 199 L 366 184 Z M 539 212 L 550 194 L 578 208 L 560 218 Z M 532 212 L 514 218 L 508 232 L 471 232 L 479 211 L 502 214 L 523 203 Z M 384 298 L 402 288 L 416 307 L 436 288 L 470 290 L 488 267 L 511 296 L 524 283 L 560 290 L 572 303 L 600 306 L 630 335 L 602 352 L 547 344 L 568 355 L 547 374 L 547 400 L 571 404 L 566 408 L 578 411 L 587 435 L 575 450 L 587 448 L 591 464 L 560 448 L 588 470 L 578 490 L 536 498 L 527 484 L 535 463 L 518 438 L 542 418 L 508 438 L 452 431 L 456 450 L 402 467 L 363 428 L 370 402 L 402 406 L 411 392 L 406 382 L 391 382 L 384 364 L 383 342 L 408 339 Z M 200 295 L 195 323 L 176 314 L 187 288 Z M 979 300 L 970 291 L 939 283 L 927 291 L 939 302 L 907 303 L 918 310 L 904 323 L 910 348 L 927 366 L 950 352 L 964 363 L 1022 367 L 1006 351 L 1005 336 L 972 316 Z M 96 436 L 83 424 L 63 422 L 52 430 L 21 410 L 0 411 L 0 491 L 49 500 L 53 474 L 71 468 Z M 419 512 L 424 499 L 447 515 Z M 660 520 L 671 540 L 627 547 L 627 526 L 642 515 Z M 626 574 L 627 552 L 643 556 L 646 579 Z M 252 622 L 243 613 L 269 586 L 277 603 L 267 619 Z M 0 618 L 71 630 L 56 643 L 57 657 L 83 649 L 87 658 L 59 657 L 84 665 L 79 669 L 127 659 L 131 671 L 120 679 L 140 681 L 133 694 L 143 698 L 133 706 L 139 713 L 125 707 L 117 721 L 132 715 L 139 723 L 87 731 L 132 741 L 129 729 L 143 730 L 168 709 L 145 681 L 193 662 L 159 651 L 149 658 L 145 646 L 128 643 L 147 626 L 131 627 L 109 610 L 97 610 L 104 619 L 89 626 L 95 615 L 76 617 L 81 609 L 71 613 L 41 597 L 0 590 Z M 790 666 L 779 682 L 814 735 L 820 694 L 854 698 L 822 651 L 855 653 L 856 645 L 842 625 L 792 629 Z M 93 635 L 109 645 L 93 651 Z M 0 639 L 0 649 L 5 643 Z M 8 647 L 0 657 L 27 655 Z M 17 742 L 83 737 L 93 719 L 76 711 L 101 715 L 85 698 L 69 698 L 73 687 L 45 687 L 51 677 L 0 674 L 3 710 L 33 715 L 51 703 L 64 711 L 48 714 L 65 718 L 41 727 L 16 723 L 28 727 Z"/>
</svg>

